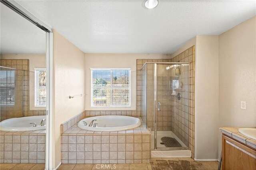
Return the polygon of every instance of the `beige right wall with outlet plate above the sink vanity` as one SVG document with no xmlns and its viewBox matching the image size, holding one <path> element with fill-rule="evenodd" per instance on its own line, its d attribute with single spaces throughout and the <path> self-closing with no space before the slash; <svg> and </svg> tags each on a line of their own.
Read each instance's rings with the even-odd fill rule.
<svg viewBox="0 0 256 170">
<path fill-rule="evenodd" d="M 256 126 L 256 17 L 219 35 L 220 127 Z M 240 109 L 246 102 L 246 110 Z M 219 138 L 221 150 L 221 136 Z"/>
</svg>

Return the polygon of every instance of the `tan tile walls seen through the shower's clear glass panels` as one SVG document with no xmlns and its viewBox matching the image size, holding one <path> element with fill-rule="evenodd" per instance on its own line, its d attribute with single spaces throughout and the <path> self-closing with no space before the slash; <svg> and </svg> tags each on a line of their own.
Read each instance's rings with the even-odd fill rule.
<svg viewBox="0 0 256 170">
<path fill-rule="evenodd" d="M 176 75 L 175 67 L 167 70 L 167 66 L 174 65 L 157 64 L 157 102 L 161 104 L 161 110 L 157 111 L 156 116 L 157 131 L 177 132 L 175 134 L 188 146 L 188 66 L 180 66 L 181 74 L 179 75 Z M 141 116 L 142 119 L 146 116 L 147 119 L 144 120 L 147 121 L 148 128 L 154 130 L 154 64 L 148 63 L 145 67 L 147 71 L 143 69 L 141 72 L 141 86 L 143 87 L 141 91 Z M 145 74 L 147 74 L 147 78 Z M 182 87 L 176 89 L 176 92 L 170 88 L 172 80 L 179 80 L 182 83 Z M 175 97 L 178 92 L 182 96 L 181 100 L 177 100 Z M 146 100 L 144 100 L 145 96 Z M 174 116 L 180 122 L 176 121 Z M 181 122 L 182 124 L 179 125 Z M 174 125 L 182 128 L 174 128 Z"/>
</svg>

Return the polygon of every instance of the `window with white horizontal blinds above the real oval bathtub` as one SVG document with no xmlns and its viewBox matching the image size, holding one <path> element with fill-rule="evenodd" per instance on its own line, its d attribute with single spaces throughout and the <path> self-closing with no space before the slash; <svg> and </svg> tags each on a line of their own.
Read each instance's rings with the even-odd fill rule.
<svg viewBox="0 0 256 170">
<path fill-rule="evenodd" d="M 130 107 L 130 68 L 91 68 L 92 107 Z"/>
</svg>

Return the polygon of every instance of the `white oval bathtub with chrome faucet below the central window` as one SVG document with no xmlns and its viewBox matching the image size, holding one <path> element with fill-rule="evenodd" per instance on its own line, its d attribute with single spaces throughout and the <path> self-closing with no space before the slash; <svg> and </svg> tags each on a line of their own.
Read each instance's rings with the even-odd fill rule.
<svg viewBox="0 0 256 170">
<path fill-rule="evenodd" d="M 97 127 L 93 127 L 93 125 L 89 127 L 93 119 L 97 119 L 93 122 L 93 125 L 98 123 Z M 84 125 L 83 121 L 86 121 L 87 125 Z M 141 121 L 139 118 L 119 115 L 88 117 L 78 122 L 78 127 L 89 131 L 124 131 L 139 127 L 140 125 Z"/>
</svg>

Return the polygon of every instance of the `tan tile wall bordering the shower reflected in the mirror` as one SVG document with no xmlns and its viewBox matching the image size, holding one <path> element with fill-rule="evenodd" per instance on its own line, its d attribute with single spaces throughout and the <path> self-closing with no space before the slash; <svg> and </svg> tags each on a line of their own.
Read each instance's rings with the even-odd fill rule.
<svg viewBox="0 0 256 170">
<path fill-rule="evenodd" d="M 33 116 L 33 115 L 46 115 L 46 110 L 29 110 L 29 60 L 18 60 L 18 59 L 1 59 L 1 66 L 9 67 L 9 68 L 16 68 L 19 70 L 24 70 L 24 87 L 23 87 L 23 111 L 24 116 Z M 22 72 L 17 72 L 18 80 L 21 79 Z M 16 82 L 15 82 L 16 83 Z M 17 81 L 18 83 L 18 81 Z M 19 86 L 22 85 L 18 84 Z M 16 87 L 16 86 L 15 86 Z M 1 121 L 5 119 L 9 119 L 12 117 L 22 117 L 22 108 L 19 109 L 19 114 L 16 114 L 16 111 L 13 111 L 12 107 L 8 107 L 8 109 L 4 109 L 5 107 L 1 107 L 0 116 Z"/>
</svg>

